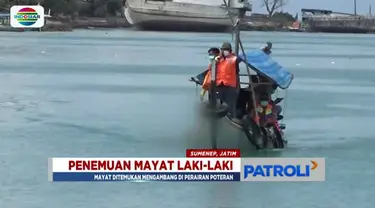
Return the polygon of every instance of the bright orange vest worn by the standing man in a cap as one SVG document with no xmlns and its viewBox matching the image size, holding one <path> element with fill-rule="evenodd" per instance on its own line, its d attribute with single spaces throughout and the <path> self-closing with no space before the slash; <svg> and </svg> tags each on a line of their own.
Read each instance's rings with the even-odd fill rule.
<svg viewBox="0 0 375 208">
<path fill-rule="evenodd" d="M 216 85 L 237 87 L 237 57 L 232 54 L 217 63 Z"/>
</svg>

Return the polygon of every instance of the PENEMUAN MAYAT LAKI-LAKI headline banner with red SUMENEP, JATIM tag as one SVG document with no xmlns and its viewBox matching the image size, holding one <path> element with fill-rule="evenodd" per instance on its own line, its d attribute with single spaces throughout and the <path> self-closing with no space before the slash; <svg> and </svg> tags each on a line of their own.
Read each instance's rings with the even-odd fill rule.
<svg viewBox="0 0 375 208">
<path fill-rule="evenodd" d="M 188 149 L 185 158 L 51 158 L 49 164 L 50 181 L 240 181 L 241 172 L 237 149 Z"/>
</svg>

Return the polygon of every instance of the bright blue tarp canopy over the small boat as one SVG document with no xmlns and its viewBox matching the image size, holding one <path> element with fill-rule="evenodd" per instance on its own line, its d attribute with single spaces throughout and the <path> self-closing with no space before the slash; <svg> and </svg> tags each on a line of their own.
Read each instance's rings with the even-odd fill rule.
<svg viewBox="0 0 375 208">
<path fill-rule="evenodd" d="M 239 58 L 245 62 L 243 54 Z M 274 61 L 261 50 L 246 52 L 247 64 L 260 75 L 267 76 L 276 82 L 281 89 L 287 89 L 293 81 L 293 74 Z"/>
</svg>

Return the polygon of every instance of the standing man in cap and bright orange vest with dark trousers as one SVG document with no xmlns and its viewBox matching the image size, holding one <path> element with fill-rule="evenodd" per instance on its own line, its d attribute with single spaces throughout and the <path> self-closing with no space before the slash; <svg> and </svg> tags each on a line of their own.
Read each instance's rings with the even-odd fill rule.
<svg viewBox="0 0 375 208">
<path fill-rule="evenodd" d="M 240 59 L 232 52 L 232 45 L 224 42 L 217 61 L 216 86 L 221 101 L 228 105 L 228 116 L 236 117 L 236 101 Z"/>
</svg>

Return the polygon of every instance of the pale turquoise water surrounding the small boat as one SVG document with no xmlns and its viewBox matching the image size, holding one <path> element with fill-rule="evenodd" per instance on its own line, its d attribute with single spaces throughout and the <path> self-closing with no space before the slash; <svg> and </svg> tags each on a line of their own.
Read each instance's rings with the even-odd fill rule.
<svg viewBox="0 0 375 208">
<path fill-rule="evenodd" d="M 289 148 L 244 155 L 326 157 L 323 183 L 49 183 L 48 157 L 184 156 L 209 147 L 187 80 L 230 34 L 127 30 L 0 33 L 0 207 L 373 207 L 375 36 L 244 33 L 274 43 L 295 74 Z M 224 124 L 223 124 L 224 125 Z"/>
</svg>

